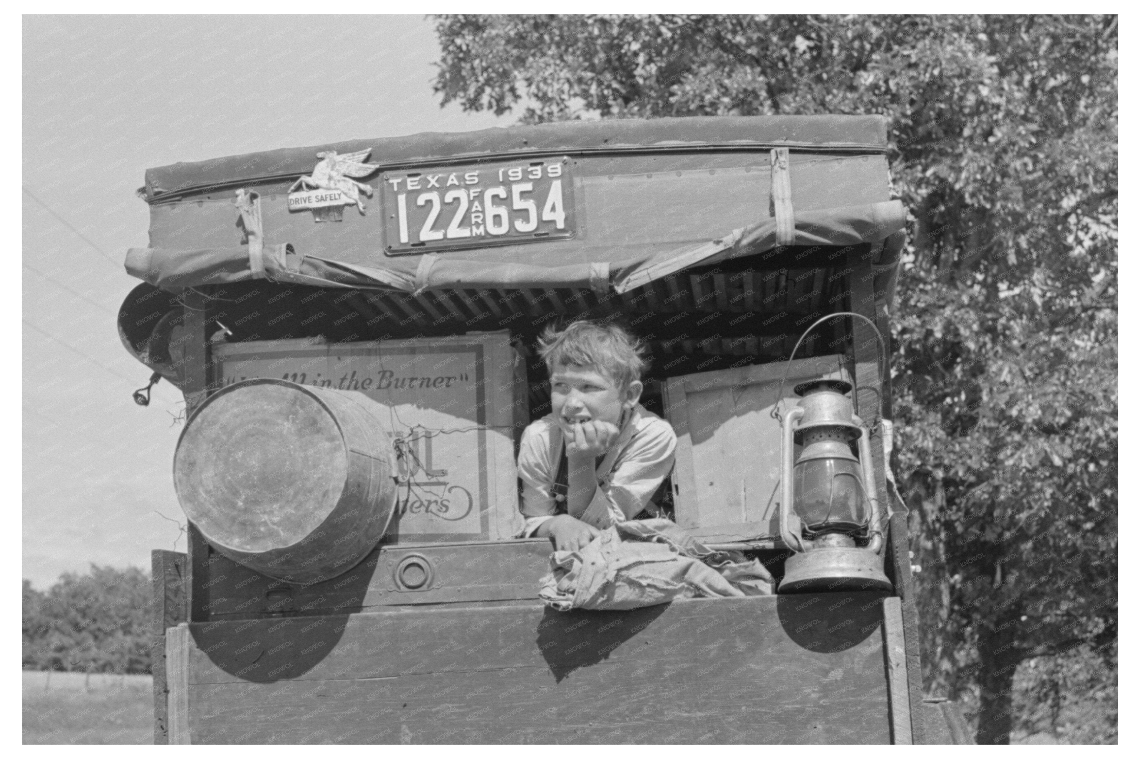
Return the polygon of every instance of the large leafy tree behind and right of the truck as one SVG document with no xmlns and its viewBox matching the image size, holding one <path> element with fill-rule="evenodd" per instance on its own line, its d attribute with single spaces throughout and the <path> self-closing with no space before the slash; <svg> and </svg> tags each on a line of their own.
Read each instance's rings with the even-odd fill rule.
<svg viewBox="0 0 1140 759">
<path fill-rule="evenodd" d="M 894 465 L 927 682 L 1004 743 L 1020 662 L 1115 646 L 1115 17 L 441 16 L 437 33 L 443 104 L 527 123 L 889 116 L 913 215 Z"/>
</svg>

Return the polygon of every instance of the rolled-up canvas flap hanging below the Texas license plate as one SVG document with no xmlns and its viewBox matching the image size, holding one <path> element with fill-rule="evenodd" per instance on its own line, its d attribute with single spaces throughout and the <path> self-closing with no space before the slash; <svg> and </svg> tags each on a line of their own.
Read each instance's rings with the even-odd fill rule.
<svg viewBox="0 0 1140 759">
<path fill-rule="evenodd" d="M 876 243 L 903 229 L 905 222 L 906 212 L 899 201 L 797 211 L 790 244 Z M 125 267 L 131 276 L 172 292 L 252 279 L 406 292 L 482 287 L 565 287 L 597 292 L 612 287 L 627 292 L 682 269 L 771 251 L 777 246 L 779 232 L 777 220 L 771 217 L 748 227 L 726 230 L 723 237 L 702 245 L 689 244 L 633 256 L 614 246 L 609 248 L 613 254 L 609 260 L 567 263 L 552 259 L 552 266 L 472 261 L 465 260 L 462 251 L 398 258 L 377 252 L 374 266 L 363 266 L 304 255 L 288 243 L 277 243 L 199 250 L 131 248 Z"/>
</svg>

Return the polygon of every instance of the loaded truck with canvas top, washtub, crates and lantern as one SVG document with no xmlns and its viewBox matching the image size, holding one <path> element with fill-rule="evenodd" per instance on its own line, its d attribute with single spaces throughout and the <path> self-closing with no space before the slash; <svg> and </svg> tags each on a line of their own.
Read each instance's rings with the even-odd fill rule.
<svg viewBox="0 0 1140 759">
<path fill-rule="evenodd" d="M 889 468 L 887 131 L 569 122 L 148 170 L 119 328 L 187 417 L 155 742 L 968 742 L 922 688 Z M 515 456 L 538 337 L 579 318 L 651 352 L 663 513 L 773 594 L 542 602 Z"/>
</svg>

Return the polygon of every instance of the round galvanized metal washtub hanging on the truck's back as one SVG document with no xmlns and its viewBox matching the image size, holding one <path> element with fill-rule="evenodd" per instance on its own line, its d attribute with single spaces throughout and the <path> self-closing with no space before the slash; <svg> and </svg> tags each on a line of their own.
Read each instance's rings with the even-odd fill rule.
<svg viewBox="0 0 1140 759">
<path fill-rule="evenodd" d="M 308 585 L 375 547 L 396 506 L 383 407 L 361 393 L 246 379 L 211 395 L 174 452 L 186 516 L 222 555 Z"/>
</svg>

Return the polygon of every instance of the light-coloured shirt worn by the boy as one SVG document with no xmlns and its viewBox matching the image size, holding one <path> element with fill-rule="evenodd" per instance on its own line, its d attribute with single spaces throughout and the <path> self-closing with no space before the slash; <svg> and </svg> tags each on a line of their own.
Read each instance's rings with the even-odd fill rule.
<svg viewBox="0 0 1140 759">
<path fill-rule="evenodd" d="M 531 423 L 519 446 L 522 480 L 522 515 L 527 522 L 519 537 L 527 538 L 555 515 L 554 484 L 562 463 L 564 441 L 553 414 Z M 581 514 L 571 516 L 600 530 L 632 520 L 644 509 L 673 470 L 677 435 L 661 417 L 635 406 L 618 435 L 618 442 L 596 465 L 597 492 Z"/>
</svg>

